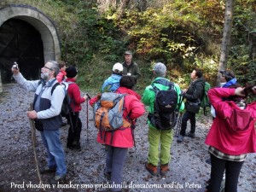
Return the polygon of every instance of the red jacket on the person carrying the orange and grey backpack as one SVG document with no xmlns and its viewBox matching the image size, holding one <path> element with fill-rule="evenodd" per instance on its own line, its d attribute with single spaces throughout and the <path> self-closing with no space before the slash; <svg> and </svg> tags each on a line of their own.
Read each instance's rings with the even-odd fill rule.
<svg viewBox="0 0 256 192">
<path fill-rule="evenodd" d="M 143 113 L 145 113 L 143 103 L 139 101 L 139 98 L 141 96 L 139 96 L 135 91 L 127 89 L 125 87 L 119 87 L 116 92 L 122 94 L 129 94 L 125 96 L 125 110 L 123 113 L 123 118 L 125 118 L 128 113 L 131 113 L 130 118 L 137 119 L 138 117 L 142 116 Z M 96 97 L 90 100 L 90 105 L 92 106 L 94 102 L 96 102 Z M 113 139 L 112 143 L 111 138 Z M 118 148 L 132 148 L 133 138 L 131 134 L 131 128 L 113 131 L 113 135 L 111 132 L 108 131 L 102 131 L 101 135 L 99 131 L 97 135 L 97 142 Z"/>
</svg>

